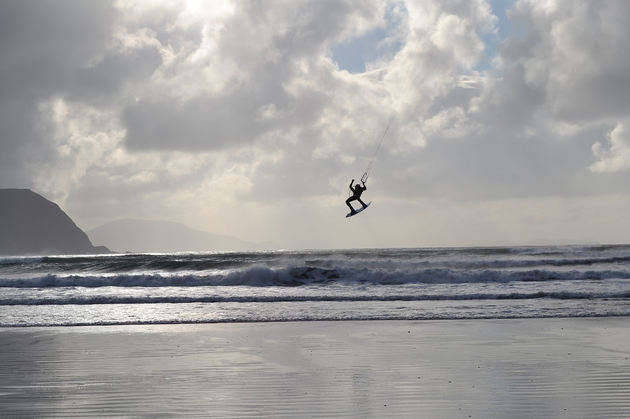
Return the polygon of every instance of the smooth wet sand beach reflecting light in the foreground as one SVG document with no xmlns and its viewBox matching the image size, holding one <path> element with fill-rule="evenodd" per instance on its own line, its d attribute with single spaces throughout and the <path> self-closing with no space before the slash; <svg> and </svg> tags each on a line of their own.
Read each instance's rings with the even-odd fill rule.
<svg viewBox="0 0 630 419">
<path fill-rule="evenodd" d="M 3 418 L 627 418 L 627 317 L 1 328 Z"/>
</svg>

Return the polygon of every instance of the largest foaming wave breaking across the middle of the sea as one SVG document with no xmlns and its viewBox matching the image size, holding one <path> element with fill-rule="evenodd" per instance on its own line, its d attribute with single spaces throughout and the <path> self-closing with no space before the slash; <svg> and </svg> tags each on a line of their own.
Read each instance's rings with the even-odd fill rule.
<svg viewBox="0 0 630 419">
<path fill-rule="evenodd" d="M 527 281 L 581 281 L 593 279 L 630 279 L 630 272 L 605 271 L 551 271 L 532 269 L 525 271 L 481 269 L 457 270 L 430 269 L 368 269 L 339 267 L 289 267 L 270 269 L 264 266 L 249 267 L 219 275 L 195 274 L 108 274 L 68 275 L 48 274 L 33 278 L 0 279 L 0 287 L 168 287 L 168 286 L 302 286 L 305 284 L 464 284 L 484 282 Z"/>
</svg>

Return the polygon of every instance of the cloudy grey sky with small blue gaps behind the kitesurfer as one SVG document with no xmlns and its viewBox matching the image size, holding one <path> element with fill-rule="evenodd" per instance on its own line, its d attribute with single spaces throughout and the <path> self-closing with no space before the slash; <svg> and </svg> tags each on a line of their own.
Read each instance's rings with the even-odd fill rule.
<svg viewBox="0 0 630 419">
<path fill-rule="evenodd" d="M 285 249 L 628 243 L 628 21 L 626 0 L 2 1 L 0 187 L 84 231 Z"/>
</svg>

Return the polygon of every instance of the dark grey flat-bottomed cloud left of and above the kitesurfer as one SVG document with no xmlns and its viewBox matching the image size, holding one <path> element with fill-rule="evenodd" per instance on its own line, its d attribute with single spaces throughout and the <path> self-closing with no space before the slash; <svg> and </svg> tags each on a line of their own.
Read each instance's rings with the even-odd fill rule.
<svg viewBox="0 0 630 419">
<path fill-rule="evenodd" d="M 270 82 L 263 91 L 232 92 L 217 98 L 194 98 L 181 104 L 176 99 L 138 101 L 123 110 L 127 145 L 132 150 L 215 150 L 251 144 L 272 130 L 290 130 L 317 118 L 327 101 L 318 91 L 290 98 Z M 274 91 L 275 90 L 275 91 Z M 269 120 L 261 108 L 273 100 L 282 120 Z"/>
</svg>

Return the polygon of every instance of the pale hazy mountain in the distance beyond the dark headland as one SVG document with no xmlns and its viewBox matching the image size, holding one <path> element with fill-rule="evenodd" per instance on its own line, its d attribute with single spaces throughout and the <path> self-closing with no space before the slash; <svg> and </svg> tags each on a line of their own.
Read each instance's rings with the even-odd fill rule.
<svg viewBox="0 0 630 419">
<path fill-rule="evenodd" d="M 123 218 L 88 232 L 95 243 L 119 252 L 222 252 L 227 250 L 278 250 L 273 242 L 252 243 L 236 237 L 218 235 L 171 221 Z"/>
</svg>

